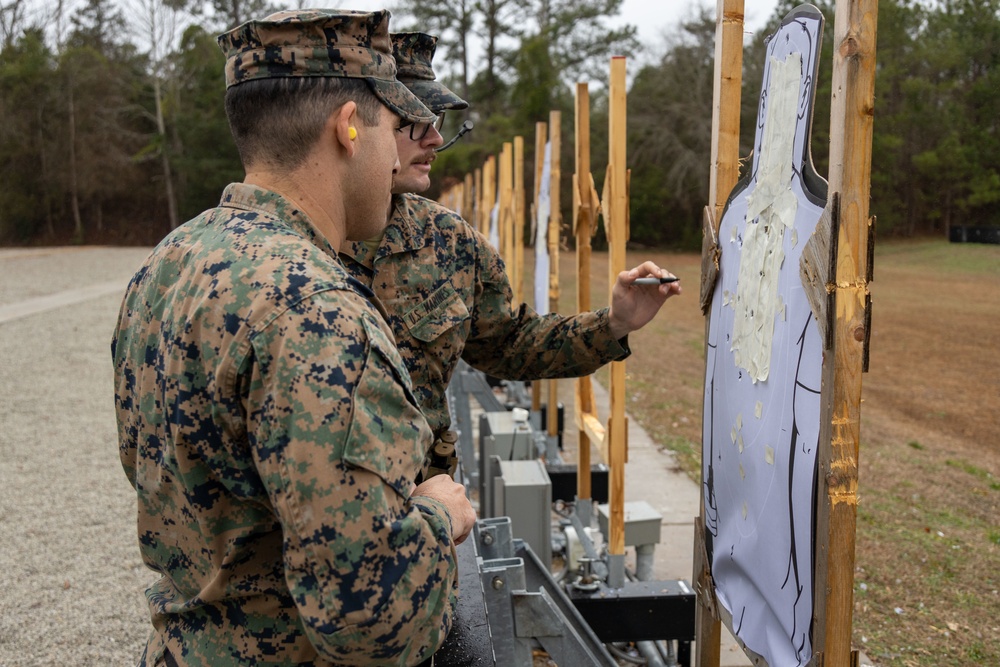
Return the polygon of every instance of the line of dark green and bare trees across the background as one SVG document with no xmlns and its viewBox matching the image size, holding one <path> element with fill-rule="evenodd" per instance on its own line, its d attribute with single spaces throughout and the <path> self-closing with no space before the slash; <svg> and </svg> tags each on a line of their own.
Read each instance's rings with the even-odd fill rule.
<svg viewBox="0 0 1000 667">
<path fill-rule="evenodd" d="M 563 112 L 562 164 L 571 173 L 573 84 L 590 80 L 591 171 L 600 191 L 601 82 L 610 55 L 633 56 L 632 241 L 700 247 L 714 7 L 695 6 L 661 44 L 642 45 L 634 27 L 610 27 L 621 1 L 402 0 L 393 8 L 393 30 L 440 36 L 439 76 L 472 105 L 446 119 L 446 139 L 466 119 L 475 130 L 439 155 L 435 186 L 471 172 L 515 135 L 526 137 L 533 160 L 534 124 L 552 109 Z M 768 26 L 748 38 L 746 158 L 764 40 L 796 4 L 782 0 Z M 834 2 L 814 4 L 827 18 L 812 140 L 825 174 Z M 65 0 L 0 0 L 0 242 L 152 244 L 215 205 L 223 187 L 243 177 L 215 35 L 273 9 L 267 0 L 86 0 L 74 11 Z M 879 234 L 997 224 L 998 10 L 1000 0 L 879 3 L 870 206 Z M 650 57 L 651 49 L 662 55 Z"/>
</svg>

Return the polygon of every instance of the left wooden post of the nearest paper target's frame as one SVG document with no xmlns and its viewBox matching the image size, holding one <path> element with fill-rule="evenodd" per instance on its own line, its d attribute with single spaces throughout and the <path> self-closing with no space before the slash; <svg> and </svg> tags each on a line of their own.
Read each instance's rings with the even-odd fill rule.
<svg viewBox="0 0 1000 667">
<path fill-rule="evenodd" d="M 712 153 L 709 163 L 708 206 L 703 233 L 718 239 L 722 210 L 739 180 L 740 86 L 743 82 L 743 0 L 718 0 L 715 17 L 715 74 L 712 94 Z M 704 250 L 703 250 L 704 251 Z M 703 257 L 702 262 L 706 259 Z M 702 275 L 702 280 L 706 279 Z M 704 289 L 704 287 L 703 287 Z M 705 339 L 709 321 L 705 319 Z M 706 347 L 707 354 L 707 347 Z M 718 667 L 721 658 L 722 624 L 712 600 L 711 563 L 705 554 L 705 496 L 699 494 L 696 519 L 694 573 L 698 593 L 695 608 L 695 665 Z"/>
</svg>

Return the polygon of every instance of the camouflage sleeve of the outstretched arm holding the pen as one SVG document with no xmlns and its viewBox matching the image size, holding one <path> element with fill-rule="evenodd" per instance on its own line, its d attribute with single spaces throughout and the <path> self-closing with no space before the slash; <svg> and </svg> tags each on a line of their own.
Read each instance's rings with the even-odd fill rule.
<svg viewBox="0 0 1000 667">
<path fill-rule="evenodd" d="M 507 380 L 579 377 L 631 353 L 611 335 L 608 309 L 563 316 L 540 315 L 527 304 L 513 309 L 503 260 L 478 232 L 476 296 L 462 358 Z M 499 353 L 499 351 L 503 353 Z"/>
</svg>

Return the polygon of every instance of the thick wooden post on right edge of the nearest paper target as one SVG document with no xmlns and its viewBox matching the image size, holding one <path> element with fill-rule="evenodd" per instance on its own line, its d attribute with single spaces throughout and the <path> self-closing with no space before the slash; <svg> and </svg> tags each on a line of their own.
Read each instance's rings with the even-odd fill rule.
<svg viewBox="0 0 1000 667">
<path fill-rule="evenodd" d="M 826 482 L 818 528 L 826 529 L 828 552 L 817 559 L 816 585 L 825 586 L 825 606 L 817 626 L 824 636 L 824 665 L 848 665 L 854 611 L 854 543 L 857 529 L 861 373 L 868 340 L 871 280 L 872 121 L 875 97 L 877 0 L 838 0 L 833 38 L 833 99 L 830 107 L 830 201 L 839 211 L 836 265 L 836 321 L 833 354 L 823 362 L 823 384 L 832 384 L 824 405 L 820 471 Z M 835 199 L 836 198 L 836 199 Z M 835 223 L 838 221 L 835 221 Z M 824 392 L 825 393 L 825 392 Z M 829 451 L 822 445 L 829 442 Z M 822 465 L 822 464 L 821 464 Z M 822 596 L 821 596 L 822 597 Z M 817 613 L 821 610 L 817 609 Z"/>
</svg>

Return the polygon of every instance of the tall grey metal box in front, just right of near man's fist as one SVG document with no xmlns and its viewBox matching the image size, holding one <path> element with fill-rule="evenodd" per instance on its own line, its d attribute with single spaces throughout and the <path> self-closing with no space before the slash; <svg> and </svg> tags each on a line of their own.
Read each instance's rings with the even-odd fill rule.
<svg viewBox="0 0 1000 667">
<path fill-rule="evenodd" d="M 510 517 L 516 539 L 524 540 L 539 560 L 552 563 L 552 482 L 545 464 L 501 461 L 494 480 L 496 515 Z"/>
</svg>

